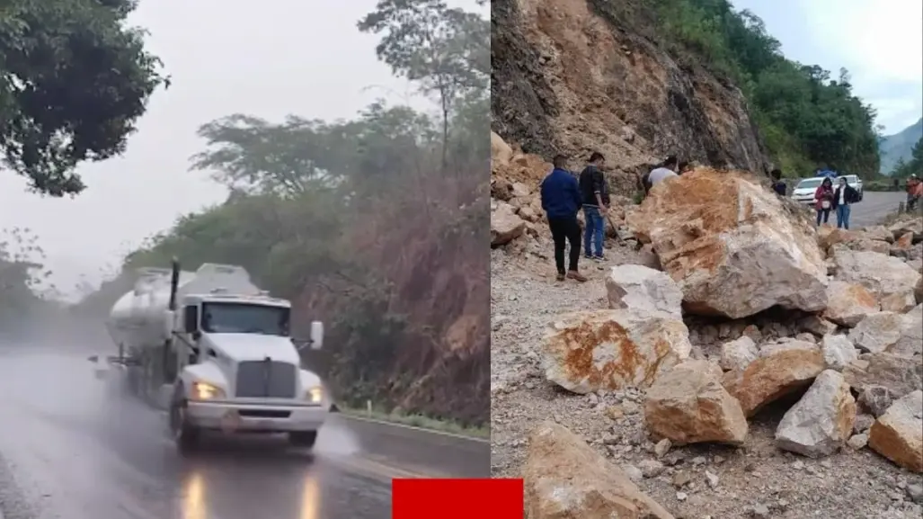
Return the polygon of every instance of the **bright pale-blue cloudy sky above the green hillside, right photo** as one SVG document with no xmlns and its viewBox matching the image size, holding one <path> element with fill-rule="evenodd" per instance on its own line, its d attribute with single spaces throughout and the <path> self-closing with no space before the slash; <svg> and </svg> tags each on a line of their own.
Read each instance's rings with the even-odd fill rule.
<svg viewBox="0 0 923 519">
<path fill-rule="evenodd" d="M 884 133 L 923 116 L 920 0 L 731 0 L 763 19 L 785 56 L 849 70 L 857 96 L 878 110 Z"/>
</svg>

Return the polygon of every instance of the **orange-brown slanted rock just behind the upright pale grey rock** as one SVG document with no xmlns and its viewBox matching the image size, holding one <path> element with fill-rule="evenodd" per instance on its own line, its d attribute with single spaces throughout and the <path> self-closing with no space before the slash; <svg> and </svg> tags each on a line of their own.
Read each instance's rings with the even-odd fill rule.
<svg viewBox="0 0 923 519">
<path fill-rule="evenodd" d="M 786 349 L 758 358 L 746 369 L 728 371 L 723 384 L 749 417 L 763 405 L 809 385 L 822 370 L 820 351 Z"/>
</svg>

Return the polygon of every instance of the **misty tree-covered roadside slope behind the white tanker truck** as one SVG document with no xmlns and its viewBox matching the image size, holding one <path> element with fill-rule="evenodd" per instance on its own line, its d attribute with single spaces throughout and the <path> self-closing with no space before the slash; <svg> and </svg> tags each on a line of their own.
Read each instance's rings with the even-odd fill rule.
<svg viewBox="0 0 923 519">
<path fill-rule="evenodd" d="M 343 404 L 372 400 L 483 424 L 489 351 L 478 354 L 484 364 L 475 370 L 484 380 L 453 387 L 449 399 L 433 393 L 452 383 L 451 369 L 430 370 L 438 352 L 450 350 L 446 331 L 470 312 L 468 301 L 485 308 L 489 292 L 489 94 L 485 82 L 473 81 L 489 67 L 489 26 L 435 2 L 386 4 L 366 18 L 378 19 L 372 25 L 386 33 L 380 48 L 389 50 L 379 56 L 425 91 L 452 83 L 452 97 L 439 99 L 439 117 L 379 101 L 351 120 L 290 116 L 276 124 L 232 115 L 204 125 L 207 149 L 193 168 L 213 172 L 228 199 L 151 236 L 127 255 L 120 279 L 174 257 L 185 270 L 203 262 L 241 265 L 273 295 L 293 301 L 294 332 L 310 320 L 328 322 L 330 347 L 306 353 L 306 362 Z M 426 68 L 436 63 L 427 61 L 433 49 L 402 43 L 394 31 L 403 26 L 438 35 L 440 53 L 473 45 L 453 55 L 450 68 Z M 417 64 L 423 68 L 402 72 Z M 465 342 L 486 342 L 489 316 L 482 320 L 483 333 Z"/>
</svg>

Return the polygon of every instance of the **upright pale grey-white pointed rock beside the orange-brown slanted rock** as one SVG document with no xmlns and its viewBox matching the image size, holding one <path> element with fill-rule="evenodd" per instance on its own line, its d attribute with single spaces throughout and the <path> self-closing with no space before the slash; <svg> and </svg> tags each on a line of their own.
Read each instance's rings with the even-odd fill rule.
<svg viewBox="0 0 923 519">
<path fill-rule="evenodd" d="M 826 369 L 775 430 L 778 448 L 817 458 L 843 446 L 856 420 L 856 401 L 843 375 Z"/>
</svg>

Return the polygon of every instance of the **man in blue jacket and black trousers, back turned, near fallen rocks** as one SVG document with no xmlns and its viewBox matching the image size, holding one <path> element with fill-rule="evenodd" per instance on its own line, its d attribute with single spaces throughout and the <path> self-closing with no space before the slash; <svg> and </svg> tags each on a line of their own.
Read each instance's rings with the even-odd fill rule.
<svg viewBox="0 0 923 519">
<path fill-rule="evenodd" d="M 580 223 L 577 223 L 577 211 L 580 211 L 581 191 L 577 179 L 564 169 L 567 157 L 555 156 L 555 169 L 542 181 L 542 209 L 548 218 L 551 237 L 555 241 L 555 264 L 557 281 L 569 279 L 584 282 L 586 277 L 577 270 L 580 260 Z M 570 243 L 568 270 L 564 270 L 564 249 Z"/>
</svg>

